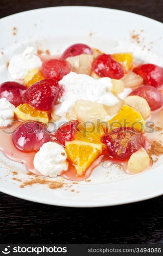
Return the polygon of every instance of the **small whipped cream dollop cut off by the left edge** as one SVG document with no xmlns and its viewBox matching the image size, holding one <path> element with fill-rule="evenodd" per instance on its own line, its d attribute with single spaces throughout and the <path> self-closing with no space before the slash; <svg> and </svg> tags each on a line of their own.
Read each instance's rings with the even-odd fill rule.
<svg viewBox="0 0 163 256">
<path fill-rule="evenodd" d="M 7 127 L 12 123 L 14 117 L 15 106 L 6 98 L 0 99 L 0 127 Z"/>
</svg>

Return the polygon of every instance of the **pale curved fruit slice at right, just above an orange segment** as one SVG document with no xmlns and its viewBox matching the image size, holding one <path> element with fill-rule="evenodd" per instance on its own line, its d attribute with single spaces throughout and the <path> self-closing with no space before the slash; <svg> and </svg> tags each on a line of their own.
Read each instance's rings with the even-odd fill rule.
<svg viewBox="0 0 163 256">
<path fill-rule="evenodd" d="M 128 96 L 125 99 L 125 104 L 140 113 L 144 119 L 147 119 L 151 113 L 147 100 L 142 97 L 136 95 Z"/>
</svg>

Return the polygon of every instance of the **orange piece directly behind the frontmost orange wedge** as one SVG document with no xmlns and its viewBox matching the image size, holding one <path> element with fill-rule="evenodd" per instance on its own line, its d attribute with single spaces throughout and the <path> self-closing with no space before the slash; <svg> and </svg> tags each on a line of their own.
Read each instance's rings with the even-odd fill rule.
<svg viewBox="0 0 163 256">
<path fill-rule="evenodd" d="M 78 131 L 75 133 L 74 138 L 76 140 L 87 141 L 91 143 L 101 144 L 101 138 L 104 135 L 102 127 L 96 126 L 95 129 L 90 127 L 83 127 L 82 125 L 78 126 Z"/>
</svg>

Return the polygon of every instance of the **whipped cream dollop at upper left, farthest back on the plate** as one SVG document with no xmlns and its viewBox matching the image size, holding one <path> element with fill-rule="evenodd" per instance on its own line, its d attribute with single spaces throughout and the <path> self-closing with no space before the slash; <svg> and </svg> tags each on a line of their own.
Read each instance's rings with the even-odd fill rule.
<svg viewBox="0 0 163 256">
<path fill-rule="evenodd" d="M 9 63 L 9 73 L 13 79 L 24 79 L 29 71 L 41 67 L 42 61 L 35 54 L 33 47 L 27 47 L 24 52 L 12 57 Z"/>
</svg>

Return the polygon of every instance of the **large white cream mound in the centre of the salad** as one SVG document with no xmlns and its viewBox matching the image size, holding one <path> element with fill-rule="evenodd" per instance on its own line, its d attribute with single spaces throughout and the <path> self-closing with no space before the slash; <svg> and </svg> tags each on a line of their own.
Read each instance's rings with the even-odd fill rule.
<svg viewBox="0 0 163 256">
<path fill-rule="evenodd" d="M 106 106 L 114 106 L 119 102 L 119 99 L 111 92 L 112 82 L 109 77 L 95 79 L 88 75 L 70 72 L 59 81 L 59 84 L 65 90 L 60 104 L 55 108 L 55 113 L 59 116 L 71 111 L 75 101 L 80 99 L 98 102 Z M 126 89 L 124 89 L 125 91 Z M 128 89 L 126 94 L 129 94 Z"/>
</svg>

